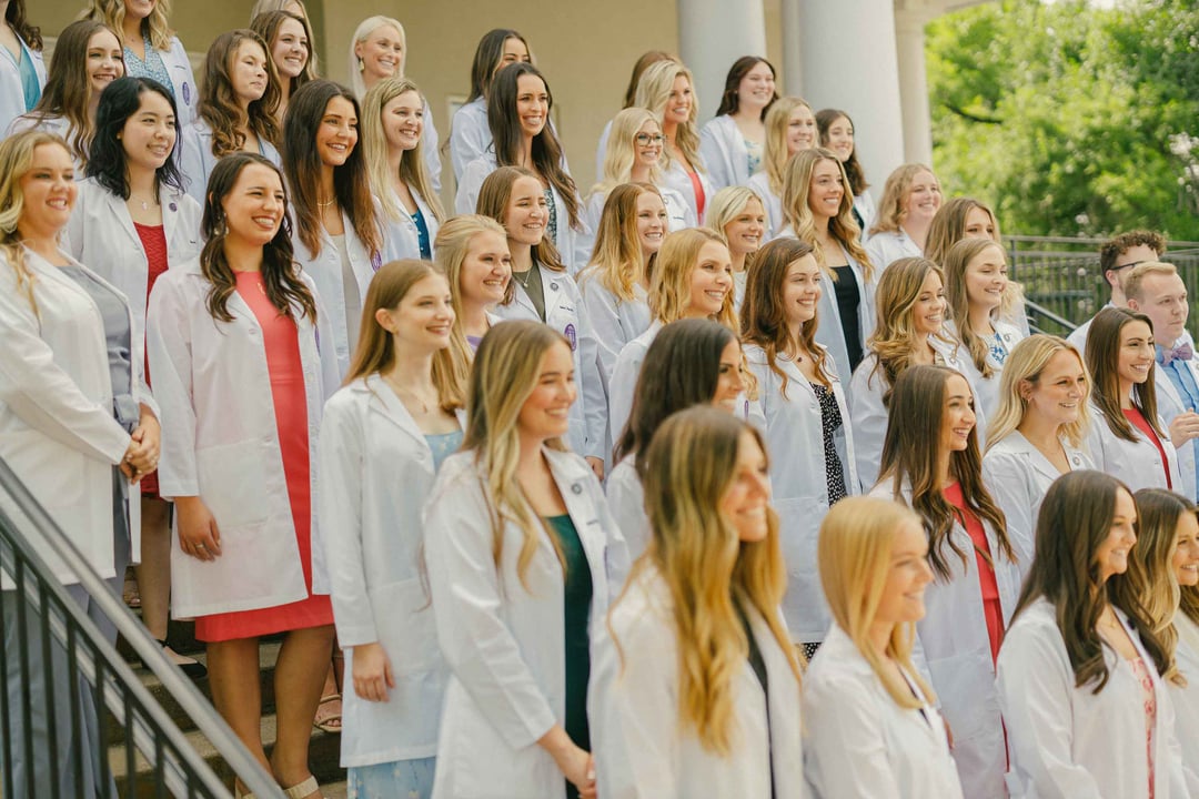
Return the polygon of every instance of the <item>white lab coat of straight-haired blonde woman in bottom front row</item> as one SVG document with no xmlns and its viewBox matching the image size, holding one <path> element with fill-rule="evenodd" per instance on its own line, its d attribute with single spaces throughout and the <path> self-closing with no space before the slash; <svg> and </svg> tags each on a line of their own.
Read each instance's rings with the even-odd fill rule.
<svg viewBox="0 0 1199 799">
<path fill-rule="evenodd" d="M 803 767 L 820 799 L 962 799 L 945 722 L 900 708 L 849 635 L 833 624 L 803 676 Z"/>
</svg>

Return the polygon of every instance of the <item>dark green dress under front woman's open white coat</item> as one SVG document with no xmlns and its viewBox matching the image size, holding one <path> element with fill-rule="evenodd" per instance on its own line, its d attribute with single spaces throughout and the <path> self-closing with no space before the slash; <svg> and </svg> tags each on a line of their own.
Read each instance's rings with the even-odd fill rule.
<svg viewBox="0 0 1199 799">
<path fill-rule="evenodd" d="M 591 616 L 591 567 L 583 541 L 570 515 L 549 516 L 550 529 L 566 558 L 566 587 L 562 592 L 566 618 L 566 734 L 577 746 L 591 751 L 588 727 L 588 679 L 591 676 L 591 647 L 588 623 Z M 579 792 L 567 781 L 566 795 Z"/>
</svg>

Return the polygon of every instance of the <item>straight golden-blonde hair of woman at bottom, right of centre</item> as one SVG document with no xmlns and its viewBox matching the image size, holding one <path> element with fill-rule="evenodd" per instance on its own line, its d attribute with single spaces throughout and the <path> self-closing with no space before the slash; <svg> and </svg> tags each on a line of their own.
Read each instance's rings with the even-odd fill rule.
<svg viewBox="0 0 1199 799">
<path fill-rule="evenodd" d="M 920 516 L 898 502 L 846 497 L 830 508 L 820 522 L 817 563 L 820 586 L 837 627 L 849 635 L 894 703 L 900 708 L 920 709 L 922 703 L 912 696 L 908 683 L 886 667 L 884 656 L 870 643 L 870 628 L 891 570 L 896 533 L 903 525 L 915 525 L 923 533 Z M 896 624 L 882 655 L 896 661 L 928 702 L 935 703 L 936 695 L 911 661 L 915 641 L 915 622 Z"/>
</svg>

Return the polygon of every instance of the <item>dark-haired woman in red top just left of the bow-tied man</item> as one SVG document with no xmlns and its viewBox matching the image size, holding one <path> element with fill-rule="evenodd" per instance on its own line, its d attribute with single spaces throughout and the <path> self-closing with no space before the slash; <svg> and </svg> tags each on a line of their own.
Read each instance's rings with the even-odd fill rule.
<svg viewBox="0 0 1199 799">
<path fill-rule="evenodd" d="M 1182 490 L 1179 456 L 1157 414 L 1157 368 L 1149 316 L 1104 308 L 1086 335 L 1091 373 L 1091 432 L 1095 467 L 1140 489 Z"/>
</svg>

